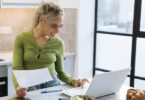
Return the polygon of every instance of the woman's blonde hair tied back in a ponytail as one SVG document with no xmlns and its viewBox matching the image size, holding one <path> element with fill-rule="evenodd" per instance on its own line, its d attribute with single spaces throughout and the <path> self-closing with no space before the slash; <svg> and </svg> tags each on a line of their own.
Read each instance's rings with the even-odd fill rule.
<svg viewBox="0 0 145 100">
<path fill-rule="evenodd" d="M 52 20 L 60 15 L 64 15 L 64 11 L 59 5 L 53 2 L 42 2 L 40 7 L 35 12 L 35 16 L 33 18 L 32 23 L 32 29 L 39 24 L 40 16 L 42 16 L 44 20 Z"/>
</svg>

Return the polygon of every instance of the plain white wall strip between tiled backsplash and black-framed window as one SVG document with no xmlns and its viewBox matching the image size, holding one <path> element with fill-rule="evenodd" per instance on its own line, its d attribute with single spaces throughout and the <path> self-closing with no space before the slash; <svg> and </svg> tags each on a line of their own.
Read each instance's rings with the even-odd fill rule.
<svg viewBox="0 0 145 100">
<path fill-rule="evenodd" d="M 77 34 L 77 78 L 91 78 L 93 68 L 93 34 L 95 0 L 80 0 Z"/>
</svg>

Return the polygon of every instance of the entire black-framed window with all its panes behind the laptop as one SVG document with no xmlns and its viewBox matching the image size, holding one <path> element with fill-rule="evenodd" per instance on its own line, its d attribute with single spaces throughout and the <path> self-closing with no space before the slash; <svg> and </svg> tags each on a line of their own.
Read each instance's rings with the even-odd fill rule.
<svg viewBox="0 0 145 100">
<path fill-rule="evenodd" d="M 145 84 L 145 0 L 96 0 L 93 75 L 131 67 L 124 84 Z"/>
</svg>

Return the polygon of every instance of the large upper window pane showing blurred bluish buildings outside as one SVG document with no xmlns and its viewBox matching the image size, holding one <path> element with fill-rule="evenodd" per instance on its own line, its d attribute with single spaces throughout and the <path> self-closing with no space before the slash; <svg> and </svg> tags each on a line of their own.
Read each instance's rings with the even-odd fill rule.
<svg viewBox="0 0 145 100">
<path fill-rule="evenodd" d="M 99 31 L 132 34 L 133 0 L 98 0 Z"/>
</svg>

